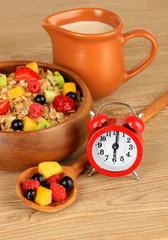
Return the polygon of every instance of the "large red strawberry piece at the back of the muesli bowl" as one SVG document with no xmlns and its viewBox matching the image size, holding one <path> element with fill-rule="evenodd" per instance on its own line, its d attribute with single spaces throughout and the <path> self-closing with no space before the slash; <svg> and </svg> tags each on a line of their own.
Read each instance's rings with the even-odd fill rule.
<svg viewBox="0 0 168 240">
<path fill-rule="evenodd" d="M 17 80 L 29 81 L 32 79 L 40 80 L 40 75 L 34 72 L 32 69 L 25 66 L 18 66 L 15 72 L 15 78 Z"/>
</svg>

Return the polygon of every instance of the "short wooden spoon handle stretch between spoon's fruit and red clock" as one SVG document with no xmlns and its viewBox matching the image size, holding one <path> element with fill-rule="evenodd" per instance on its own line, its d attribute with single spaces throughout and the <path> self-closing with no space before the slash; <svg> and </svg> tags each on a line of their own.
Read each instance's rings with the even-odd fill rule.
<svg viewBox="0 0 168 240">
<path fill-rule="evenodd" d="M 76 178 L 80 173 L 86 170 L 90 166 L 86 153 L 72 163 L 71 168 L 74 171 L 74 177 Z"/>
</svg>

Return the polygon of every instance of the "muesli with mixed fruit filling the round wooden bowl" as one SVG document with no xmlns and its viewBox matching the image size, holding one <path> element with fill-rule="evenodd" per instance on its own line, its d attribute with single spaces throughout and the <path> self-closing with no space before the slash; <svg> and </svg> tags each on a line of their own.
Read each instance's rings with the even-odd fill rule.
<svg viewBox="0 0 168 240">
<path fill-rule="evenodd" d="M 37 62 L 0 70 L 0 130 L 31 131 L 53 126 L 77 111 L 82 95 L 59 71 Z"/>
</svg>

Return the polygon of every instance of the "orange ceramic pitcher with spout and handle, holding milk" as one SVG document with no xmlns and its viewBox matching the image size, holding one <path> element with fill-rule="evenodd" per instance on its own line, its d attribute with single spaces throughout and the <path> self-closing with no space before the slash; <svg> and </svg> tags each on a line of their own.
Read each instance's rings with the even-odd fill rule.
<svg viewBox="0 0 168 240">
<path fill-rule="evenodd" d="M 108 24 L 113 30 L 103 33 L 80 33 L 62 28 L 62 25 L 97 21 Z M 154 59 L 157 53 L 155 37 L 145 29 L 122 33 L 123 22 L 114 12 L 99 8 L 80 8 L 59 12 L 47 17 L 42 26 L 52 40 L 53 61 L 78 74 L 88 86 L 93 98 L 110 95 Z M 149 54 L 126 71 L 124 43 L 134 37 L 145 37 L 151 42 Z"/>
</svg>

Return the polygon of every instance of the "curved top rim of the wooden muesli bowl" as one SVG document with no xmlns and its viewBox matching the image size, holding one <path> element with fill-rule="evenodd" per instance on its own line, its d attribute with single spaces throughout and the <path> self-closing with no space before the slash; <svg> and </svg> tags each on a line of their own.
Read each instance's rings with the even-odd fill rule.
<svg viewBox="0 0 168 240">
<path fill-rule="evenodd" d="M 9 61 L 0 61 L 0 69 L 3 68 L 3 67 L 7 67 L 7 66 L 19 66 L 19 65 L 26 65 L 30 62 L 34 62 L 35 60 L 9 60 Z M 79 116 L 80 113 L 82 113 L 83 109 L 85 108 L 85 104 L 87 102 L 87 97 L 88 95 L 90 95 L 91 97 L 91 94 L 86 86 L 86 84 L 82 81 L 82 79 L 74 72 L 72 72 L 71 70 L 65 68 L 65 67 L 62 67 L 62 66 L 59 66 L 59 65 L 56 65 L 56 64 L 52 64 L 52 63 L 46 63 L 46 62 L 41 62 L 41 61 L 36 61 L 37 64 L 40 66 L 40 67 L 46 67 L 46 68 L 55 68 L 56 70 L 58 71 L 63 71 L 63 72 L 66 72 L 67 74 L 69 74 L 71 77 L 73 77 L 76 82 L 79 84 L 79 86 L 81 87 L 82 89 L 82 94 L 83 94 L 83 101 L 82 101 L 82 104 L 81 106 L 79 107 L 79 109 L 77 109 L 77 111 L 72 114 L 70 117 L 68 117 L 65 121 L 63 122 L 60 122 L 56 125 L 53 125 L 51 127 L 48 127 L 48 128 L 42 128 L 42 129 L 37 129 L 37 130 L 31 130 L 31 131 L 4 131 L 4 130 L 0 130 L 0 133 L 5 133 L 5 134 L 17 134 L 17 135 L 22 135 L 22 134 L 29 134 L 29 133 L 33 133 L 33 132 L 43 132 L 43 131 L 48 131 L 49 129 L 54 129 L 54 128 L 59 128 L 60 126 L 62 126 L 63 124 L 68 124 L 69 122 L 72 122 L 75 118 L 77 118 L 77 116 Z M 88 113 L 89 114 L 89 113 Z"/>
</svg>

